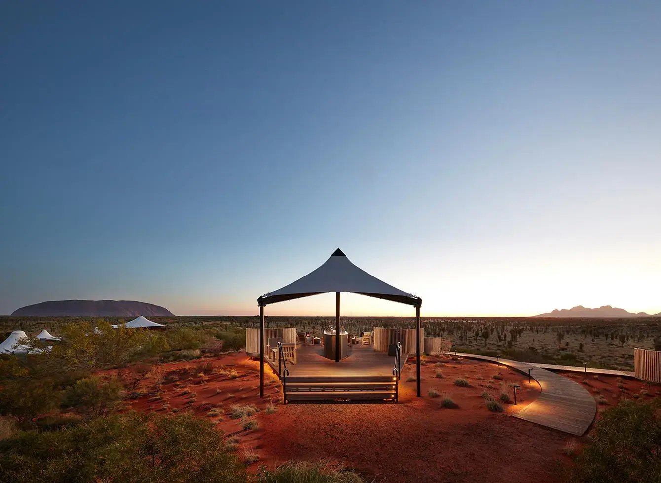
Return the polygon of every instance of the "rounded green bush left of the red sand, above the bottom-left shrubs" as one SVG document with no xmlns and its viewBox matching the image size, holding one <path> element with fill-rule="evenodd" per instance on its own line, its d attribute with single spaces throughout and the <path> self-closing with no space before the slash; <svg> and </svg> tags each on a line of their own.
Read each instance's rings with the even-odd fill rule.
<svg viewBox="0 0 661 483">
<path fill-rule="evenodd" d="M 122 389 L 117 379 L 103 383 L 100 377 L 86 377 L 65 390 L 62 405 L 100 416 L 113 410 L 122 400 Z"/>
</svg>

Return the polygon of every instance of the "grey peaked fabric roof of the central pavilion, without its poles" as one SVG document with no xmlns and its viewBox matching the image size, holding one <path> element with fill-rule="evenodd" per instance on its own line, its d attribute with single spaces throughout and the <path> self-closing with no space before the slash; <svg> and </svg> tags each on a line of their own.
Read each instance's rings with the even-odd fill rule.
<svg viewBox="0 0 661 483">
<path fill-rule="evenodd" d="M 422 299 L 388 285 L 358 268 L 338 248 L 316 270 L 257 299 L 260 306 L 326 292 L 353 292 L 420 307 Z"/>
</svg>

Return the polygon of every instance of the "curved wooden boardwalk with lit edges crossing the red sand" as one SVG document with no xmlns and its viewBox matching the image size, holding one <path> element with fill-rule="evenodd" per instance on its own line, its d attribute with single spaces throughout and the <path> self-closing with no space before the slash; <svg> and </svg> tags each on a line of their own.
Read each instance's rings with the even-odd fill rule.
<svg viewBox="0 0 661 483">
<path fill-rule="evenodd" d="M 496 357 L 457 353 L 459 357 L 497 362 Z M 500 359 L 500 363 L 527 374 L 539 383 L 541 394 L 519 412 L 515 418 L 530 421 L 541 426 L 552 427 L 565 433 L 580 436 L 590 427 L 597 413 L 597 402 L 592 394 L 578 383 L 562 375 L 526 362 Z"/>
</svg>

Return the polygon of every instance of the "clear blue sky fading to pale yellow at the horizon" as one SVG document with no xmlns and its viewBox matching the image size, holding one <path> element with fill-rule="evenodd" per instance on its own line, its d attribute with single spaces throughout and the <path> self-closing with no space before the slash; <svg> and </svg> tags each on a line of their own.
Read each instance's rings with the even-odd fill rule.
<svg viewBox="0 0 661 483">
<path fill-rule="evenodd" d="M 658 1 L 5 2 L 0 69 L 0 314 L 255 315 L 338 246 L 426 316 L 661 312 Z"/>
</svg>

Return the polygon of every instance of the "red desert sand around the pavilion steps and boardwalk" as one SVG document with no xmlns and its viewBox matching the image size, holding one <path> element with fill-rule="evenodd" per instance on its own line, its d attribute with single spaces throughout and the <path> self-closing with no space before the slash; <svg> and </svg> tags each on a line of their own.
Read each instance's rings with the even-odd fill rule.
<svg viewBox="0 0 661 483">
<path fill-rule="evenodd" d="M 563 480 L 563 467 L 570 459 L 562 450 L 574 438 L 509 416 L 537 398 L 539 386 L 534 380 L 528 384 L 527 376 L 492 363 L 426 357 L 422 366 L 424 397 L 416 398 L 416 383 L 407 382 L 414 371 L 411 359 L 403 370 L 399 404 L 284 405 L 280 382 L 268 365 L 265 397 L 260 399 L 259 363 L 245 353 L 151 367 L 136 365 L 121 375 L 136 392 L 136 398 L 128 401 L 130 408 L 161 413 L 192 411 L 214 421 L 238 441 L 239 456 L 243 451 L 254 451 L 258 461 L 251 464 L 251 470 L 261 464 L 271 467 L 288 460 L 325 459 L 344 463 L 379 482 Z M 658 395 L 658 387 L 631 379 L 564 375 L 595 396 L 603 395 L 607 404 L 599 404 L 600 410 L 633 394 L 639 394 L 638 398 Z M 457 378 L 466 379 L 469 387 L 456 386 Z M 483 392 L 496 399 L 505 392 L 514 400 L 514 384 L 521 387 L 518 406 L 502 404 L 503 412 L 490 412 Z M 431 397 L 432 389 L 440 395 Z M 442 407 L 445 397 L 457 407 Z M 266 411 L 271 402 L 275 412 Z M 232 419 L 235 404 L 254 404 L 259 412 Z M 258 427 L 244 429 L 245 422 L 251 420 Z"/>
</svg>

